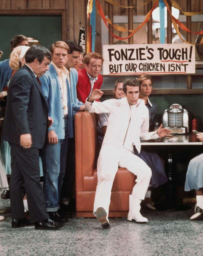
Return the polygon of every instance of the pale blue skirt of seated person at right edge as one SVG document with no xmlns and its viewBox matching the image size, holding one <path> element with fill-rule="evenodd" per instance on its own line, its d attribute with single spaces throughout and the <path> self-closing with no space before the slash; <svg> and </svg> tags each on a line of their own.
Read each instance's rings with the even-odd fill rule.
<svg viewBox="0 0 203 256">
<path fill-rule="evenodd" d="M 188 165 L 185 191 L 203 188 L 203 154 L 194 157 Z"/>
</svg>

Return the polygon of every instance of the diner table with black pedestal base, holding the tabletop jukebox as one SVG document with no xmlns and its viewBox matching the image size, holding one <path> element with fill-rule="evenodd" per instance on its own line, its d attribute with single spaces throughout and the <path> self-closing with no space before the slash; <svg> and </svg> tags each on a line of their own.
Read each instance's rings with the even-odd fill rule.
<svg viewBox="0 0 203 256">
<path fill-rule="evenodd" d="M 203 143 L 197 139 L 196 134 L 175 134 L 172 138 L 170 136 L 162 139 L 141 141 L 141 148 L 144 150 L 145 146 L 160 146 L 166 148 L 165 155 L 165 172 L 168 177 L 166 202 L 164 204 L 157 204 L 157 210 L 180 211 L 190 208 L 188 205 L 177 204 L 176 202 L 176 158 L 174 147 L 183 146 L 201 146 Z M 155 148 L 157 152 L 157 148 Z M 187 157 L 187 155 L 186 155 Z"/>
</svg>

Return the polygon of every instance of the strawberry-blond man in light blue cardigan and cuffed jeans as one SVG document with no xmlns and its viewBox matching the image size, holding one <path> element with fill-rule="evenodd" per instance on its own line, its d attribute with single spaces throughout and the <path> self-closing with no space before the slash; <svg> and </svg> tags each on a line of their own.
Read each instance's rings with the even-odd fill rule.
<svg viewBox="0 0 203 256">
<path fill-rule="evenodd" d="M 67 62 L 69 47 L 63 41 L 51 46 L 52 61 L 49 72 L 40 78 L 42 91 L 49 104 L 49 116 L 54 119 L 48 128 L 48 144 L 42 150 L 44 172 L 44 193 L 46 208 L 52 220 L 64 222 L 67 218 L 58 213 L 59 191 L 62 180 L 59 173 L 65 173 L 68 137 L 71 136 L 72 102 L 68 86 L 69 71 L 64 67 Z M 71 78 L 72 79 L 72 78 Z M 77 103 L 77 102 L 76 102 Z M 74 104 L 77 110 L 80 106 Z M 73 131 L 72 131 L 73 132 Z"/>
</svg>

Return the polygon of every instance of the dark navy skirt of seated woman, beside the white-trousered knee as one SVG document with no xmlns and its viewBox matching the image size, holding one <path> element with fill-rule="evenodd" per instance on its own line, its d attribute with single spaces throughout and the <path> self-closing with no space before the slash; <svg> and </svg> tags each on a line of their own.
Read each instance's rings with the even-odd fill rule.
<svg viewBox="0 0 203 256">
<path fill-rule="evenodd" d="M 168 181 L 163 163 L 157 153 L 141 150 L 140 154 L 137 152 L 136 155 L 151 168 L 152 178 L 150 180 L 150 184 L 153 185 L 154 188 L 157 188 Z"/>
</svg>

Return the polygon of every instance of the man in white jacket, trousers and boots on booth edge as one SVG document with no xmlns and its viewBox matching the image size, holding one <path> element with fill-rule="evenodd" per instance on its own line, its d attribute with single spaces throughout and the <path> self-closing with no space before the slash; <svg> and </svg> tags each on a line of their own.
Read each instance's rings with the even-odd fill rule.
<svg viewBox="0 0 203 256">
<path fill-rule="evenodd" d="M 138 156 L 134 155 L 134 147 L 140 152 L 141 140 L 161 138 L 169 133 L 162 125 L 157 132 L 149 130 L 149 111 L 144 100 L 139 99 L 140 83 L 134 78 L 127 78 L 123 83 L 126 95 L 122 99 L 111 99 L 96 102 L 103 92 L 94 90 L 85 103 L 89 112 L 109 113 L 108 126 L 97 163 L 98 183 L 94 199 L 94 215 L 103 228 L 109 228 L 108 212 L 111 188 L 118 166 L 127 168 L 137 176 L 132 195 L 129 198 L 128 220 L 148 222 L 140 213 L 140 203 L 144 199 L 151 169 Z"/>
</svg>

